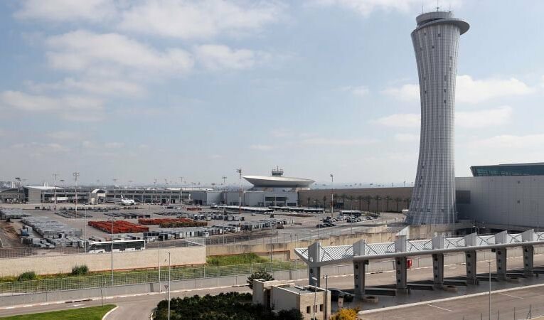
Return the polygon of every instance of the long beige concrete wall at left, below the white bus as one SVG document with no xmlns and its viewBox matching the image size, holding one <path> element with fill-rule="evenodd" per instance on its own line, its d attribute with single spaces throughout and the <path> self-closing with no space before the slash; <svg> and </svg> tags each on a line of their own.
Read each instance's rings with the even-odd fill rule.
<svg viewBox="0 0 544 320">
<path fill-rule="evenodd" d="M 132 252 L 114 252 L 114 270 L 132 270 L 157 267 L 159 254 L 156 249 Z M 171 247 L 161 250 L 161 264 L 168 264 L 171 252 L 171 265 L 202 265 L 206 263 L 206 247 Z M 166 261 L 166 262 L 165 262 Z M 104 271 L 111 268 L 110 253 L 81 255 L 41 255 L 0 259 L 0 277 L 16 276 L 26 271 L 36 274 L 70 273 L 72 267 L 87 265 L 89 271 Z"/>
</svg>

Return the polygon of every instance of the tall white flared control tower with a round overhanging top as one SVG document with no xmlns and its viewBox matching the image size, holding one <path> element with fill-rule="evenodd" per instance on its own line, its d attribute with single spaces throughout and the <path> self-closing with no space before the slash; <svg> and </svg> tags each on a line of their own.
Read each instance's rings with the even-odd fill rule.
<svg viewBox="0 0 544 320">
<path fill-rule="evenodd" d="M 444 11 L 421 14 L 416 21 L 412 43 L 420 78 L 420 159 L 407 223 L 453 223 L 455 78 L 459 36 L 469 23 Z"/>
</svg>

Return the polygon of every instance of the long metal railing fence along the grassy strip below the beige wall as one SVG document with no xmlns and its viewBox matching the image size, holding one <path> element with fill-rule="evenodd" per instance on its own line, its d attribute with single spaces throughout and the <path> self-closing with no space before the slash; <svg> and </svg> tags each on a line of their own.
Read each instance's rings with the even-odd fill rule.
<svg viewBox="0 0 544 320">
<path fill-rule="evenodd" d="M 171 281 L 188 279 L 206 279 L 215 277 L 230 277 L 249 275 L 256 271 L 277 272 L 285 270 L 304 270 L 306 265 L 300 261 L 265 262 L 248 265 L 181 267 L 171 269 Z M 168 266 L 161 267 L 161 282 L 168 281 Z M 39 279 L 20 282 L 0 283 L 0 296 L 30 294 L 38 292 L 55 292 L 74 289 L 93 289 L 100 287 L 122 286 L 127 284 L 148 284 L 159 282 L 159 270 L 140 272 L 105 272 L 100 275 L 85 277 L 63 277 Z"/>
</svg>

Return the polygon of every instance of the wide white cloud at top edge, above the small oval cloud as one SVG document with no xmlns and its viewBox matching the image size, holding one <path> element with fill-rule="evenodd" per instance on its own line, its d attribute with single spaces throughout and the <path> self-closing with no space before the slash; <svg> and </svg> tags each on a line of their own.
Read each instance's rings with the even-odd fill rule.
<svg viewBox="0 0 544 320">
<path fill-rule="evenodd" d="M 277 21 L 282 7 L 264 1 L 148 0 L 124 11 L 119 28 L 172 38 L 212 38 L 255 32 Z"/>
</svg>

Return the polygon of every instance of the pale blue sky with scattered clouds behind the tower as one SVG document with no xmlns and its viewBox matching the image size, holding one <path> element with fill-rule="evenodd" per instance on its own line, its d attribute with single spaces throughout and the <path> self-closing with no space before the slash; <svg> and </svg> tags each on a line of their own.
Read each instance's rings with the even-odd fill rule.
<svg viewBox="0 0 544 320">
<path fill-rule="evenodd" d="M 414 180 L 427 0 L 0 2 L 0 181 Z M 544 161 L 544 1 L 439 1 L 459 42 L 456 176 Z M 68 183 L 68 182 L 66 182 Z"/>
</svg>

